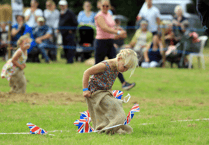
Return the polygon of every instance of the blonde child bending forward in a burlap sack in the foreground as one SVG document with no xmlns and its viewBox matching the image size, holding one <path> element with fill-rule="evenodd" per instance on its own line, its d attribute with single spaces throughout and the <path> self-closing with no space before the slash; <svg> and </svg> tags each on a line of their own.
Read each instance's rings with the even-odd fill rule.
<svg viewBox="0 0 209 145">
<path fill-rule="evenodd" d="M 83 96 L 86 97 L 88 111 L 95 130 L 124 123 L 126 115 L 122 101 L 113 96 L 112 85 L 119 72 L 132 70 L 132 75 L 137 64 L 137 54 L 131 49 L 123 49 L 116 58 L 98 63 L 84 72 Z M 132 131 L 133 129 L 129 125 L 105 130 L 106 133 L 113 134 L 131 133 Z"/>
</svg>

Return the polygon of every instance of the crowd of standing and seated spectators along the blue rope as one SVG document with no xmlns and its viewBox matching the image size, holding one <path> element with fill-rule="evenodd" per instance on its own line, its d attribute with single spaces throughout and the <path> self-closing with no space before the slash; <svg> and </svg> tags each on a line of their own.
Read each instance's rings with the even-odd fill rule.
<svg viewBox="0 0 209 145">
<path fill-rule="evenodd" d="M 110 9 L 110 5 L 103 5 L 102 2 L 103 0 L 98 0 L 97 2 L 98 12 L 106 7 L 108 13 L 112 16 L 113 12 Z M 56 4 L 52 0 L 47 0 L 45 6 L 46 9 L 42 11 L 38 8 L 38 0 L 31 0 L 30 8 L 23 15 L 18 14 L 15 16 L 16 24 L 12 25 L 11 28 L 12 49 L 16 47 L 17 40 L 22 35 L 29 33 L 33 40 L 28 50 L 29 61 L 40 62 L 39 54 L 41 54 L 45 62 L 50 63 L 57 59 L 57 40 L 61 37 L 66 61 L 67 63 L 73 63 L 77 53 L 75 49 L 77 47 L 75 40 L 76 29 L 86 26 L 94 31 L 98 31 L 95 29 L 95 18 L 98 12 L 91 10 L 92 5 L 90 1 L 84 2 L 83 10 L 78 13 L 77 17 L 73 11 L 68 9 L 66 0 L 59 1 L 58 6 L 60 10 L 56 8 Z M 146 68 L 163 67 L 165 60 L 171 63 L 179 63 L 182 57 L 180 55 L 181 51 L 184 50 L 183 41 L 188 41 L 188 44 L 192 44 L 188 45 L 186 50 L 198 52 L 200 48 L 198 34 L 188 29 L 189 21 L 184 17 L 181 6 L 176 6 L 174 13 L 175 17 L 172 21 L 162 21 L 160 20 L 160 11 L 153 6 L 152 0 L 146 0 L 136 17 L 136 22 L 140 23 L 140 27 L 136 30 L 129 44 L 124 44 L 126 31 L 120 26 L 120 19 L 113 17 L 115 20 L 114 29 L 118 30 L 119 33 L 125 31 L 124 37 L 120 37 L 119 33 L 114 34 L 114 49 L 116 49 L 117 53 L 121 49 L 133 49 L 138 55 L 139 65 Z M 166 25 L 164 34 L 162 34 L 161 24 Z M 7 32 L 7 24 L 1 23 L 0 54 L 5 59 L 7 59 L 8 46 Z M 92 33 L 92 35 L 94 34 Z M 88 38 L 86 37 L 86 39 Z M 165 44 L 162 40 L 165 40 Z M 87 48 L 94 46 L 93 43 L 87 45 L 85 41 L 82 42 L 82 46 Z M 183 58 L 183 64 L 185 67 L 188 65 L 186 55 Z"/>
</svg>

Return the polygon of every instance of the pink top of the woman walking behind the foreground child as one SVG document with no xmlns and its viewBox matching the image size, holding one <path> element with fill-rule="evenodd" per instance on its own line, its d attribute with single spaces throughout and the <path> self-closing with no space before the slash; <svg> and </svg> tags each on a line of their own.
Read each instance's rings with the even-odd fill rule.
<svg viewBox="0 0 209 145">
<path fill-rule="evenodd" d="M 96 23 L 96 30 L 97 30 L 97 35 L 96 35 L 96 39 L 114 39 L 115 34 L 110 34 L 107 32 L 104 32 L 102 30 L 101 27 L 99 27 L 98 23 L 97 23 L 97 17 L 98 16 L 102 16 L 105 19 L 106 24 L 114 29 L 115 26 L 115 21 L 113 20 L 112 16 L 107 13 L 103 13 L 103 12 L 98 12 L 98 14 L 95 16 L 95 23 Z"/>
</svg>

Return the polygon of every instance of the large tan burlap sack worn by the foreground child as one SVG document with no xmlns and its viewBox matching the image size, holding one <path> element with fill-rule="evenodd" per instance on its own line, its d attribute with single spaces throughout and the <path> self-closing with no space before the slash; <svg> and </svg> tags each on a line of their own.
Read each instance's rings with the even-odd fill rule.
<svg viewBox="0 0 209 145">
<path fill-rule="evenodd" d="M 86 102 L 94 130 L 102 130 L 124 123 L 126 115 L 122 107 L 122 100 L 116 99 L 110 91 L 98 90 L 90 98 L 86 98 Z M 129 125 L 121 125 L 99 131 L 99 133 L 103 132 L 106 134 L 126 134 L 132 133 L 133 129 Z"/>
</svg>

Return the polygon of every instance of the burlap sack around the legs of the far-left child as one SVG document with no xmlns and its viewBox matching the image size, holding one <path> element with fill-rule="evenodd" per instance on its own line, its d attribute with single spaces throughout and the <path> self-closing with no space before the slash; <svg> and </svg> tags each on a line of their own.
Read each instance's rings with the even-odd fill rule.
<svg viewBox="0 0 209 145">
<path fill-rule="evenodd" d="M 25 93 L 26 91 L 26 78 L 23 70 L 17 70 L 11 77 L 9 86 L 11 87 L 10 93 Z"/>
</svg>

